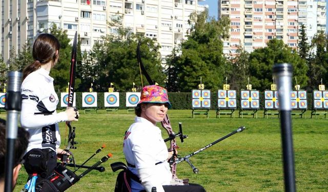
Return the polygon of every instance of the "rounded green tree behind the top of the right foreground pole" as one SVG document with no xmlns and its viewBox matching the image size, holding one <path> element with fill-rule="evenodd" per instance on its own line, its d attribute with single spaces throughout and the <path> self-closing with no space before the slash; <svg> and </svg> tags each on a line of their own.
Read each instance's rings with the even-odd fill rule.
<svg viewBox="0 0 328 192">
<path fill-rule="evenodd" d="M 308 67 L 303 59 L 298 56 L 295 50 L 283 44 L 282 40 L 272 39 L 268 46 L 254 50 L 250 54 L 250 80 L 253 88 L 266 90 L 272 84 L 272 67 L 275 63 L 291 63 L 293 66 L 293 84 L 298 84 L 305 88 L 308 81 L 306 71 Z"/>
</svg>

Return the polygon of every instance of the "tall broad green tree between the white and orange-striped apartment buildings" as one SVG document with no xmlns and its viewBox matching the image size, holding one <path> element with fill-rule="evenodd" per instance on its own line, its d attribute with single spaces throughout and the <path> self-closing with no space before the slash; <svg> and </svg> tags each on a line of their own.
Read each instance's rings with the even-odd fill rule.
<svg viewBox="0 0 328 192">
<path fill-rule="evenodd" d="M 191 14 L 190 35 L 181 45 L 182 55 L 176 67 L 179 91 L 189 92 L 197 88 L 200 77 L 206 89 L 217 90 L 222 84 L 226 69 L 220 37 L 227 33 L 227 20 L 228 17 L 222 17 L 219 22 L 208 19 L 207 11 Z"/>
</svg>

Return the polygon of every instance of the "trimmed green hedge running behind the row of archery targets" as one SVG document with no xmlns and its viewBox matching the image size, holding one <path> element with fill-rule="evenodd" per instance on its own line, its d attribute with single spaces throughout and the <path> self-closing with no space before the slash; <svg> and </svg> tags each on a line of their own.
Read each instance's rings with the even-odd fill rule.
<svg viewBox="0 0 328 192">
<path fill-rule="evenodd" d="M 60 93 L 57 93 L 60 98 Z M 172 104 L 172 109 L 174 110 L 189 110 L 191 109 L 191 96 L 192 93 L 169 93 L 169 99 Z M 312 109 L 313 106 L 313 94 L 308 93 L 308 110 Z M 240 94 L 237 93 L 237 108 L 240 106 Z M 82 108 L 82 93 L 76 93 L 76 107 L 77 109 Z M 217 92 L 211 93 L 211 110 L 216 110 L 217 108 Z M 264 108 L 264 92 L 260 92 L 260 109 Z M 57 109 L 60 108 L 60 102 Z M 104 93 L 97 93 L 97 109 L 103 110 L 104 106 Z M 118 109 L 127 109 L 126 107 L 126 93 L 119 93 L 119 108 Z"/>
</svg>

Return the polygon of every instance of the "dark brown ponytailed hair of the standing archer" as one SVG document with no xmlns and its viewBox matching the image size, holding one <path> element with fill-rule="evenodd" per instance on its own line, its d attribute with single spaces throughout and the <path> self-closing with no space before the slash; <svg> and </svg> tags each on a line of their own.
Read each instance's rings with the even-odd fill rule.
<svg viewBox="0 0 328 192">
<path fill-rule="evenodd" d="M 40 34 L 33 44 L 32 56 L 34 61 L 23 70 L 23 80 L 45 63 L 51 60 L 55 63 L 56 51 L 59 51 L 59 47 L 59 41 L 55 36 L 48 33 Z"/>
</svg>

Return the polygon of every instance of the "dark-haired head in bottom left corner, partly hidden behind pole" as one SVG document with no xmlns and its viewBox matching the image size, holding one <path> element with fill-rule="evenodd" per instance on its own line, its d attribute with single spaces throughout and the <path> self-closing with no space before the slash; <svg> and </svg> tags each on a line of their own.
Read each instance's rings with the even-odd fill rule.
<svg viewBox="0 0 328 192">
<path fill-rule="evenodd" d="M 15 141 L 15 158 L 14 158 L 14 168 L 13 168 L 13 187 L 16 184 L 18 178 L 18 172 L 22 165 L 22 157 L 28 145 L 29 133 L 25 129 L 18 127 L 17 139 Z M 5 190 L 5 160 L 6 160 L 6 121 L 0 119 L 0 192 Z"/>
</svg>

